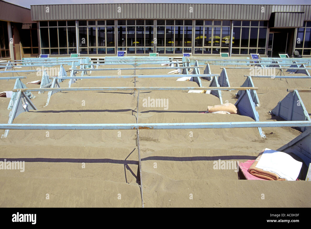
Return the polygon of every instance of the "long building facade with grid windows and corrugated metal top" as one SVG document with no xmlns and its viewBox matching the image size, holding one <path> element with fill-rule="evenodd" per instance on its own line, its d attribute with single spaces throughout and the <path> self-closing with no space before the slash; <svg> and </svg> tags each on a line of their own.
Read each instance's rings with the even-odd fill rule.
<svg viewBox="0 0 311 229">
<path fill-rule="evenodd" d="M 225 52 L 294 57 L 298 51 L 311 56 L 310 5 L 128 3 L 30 8 L 29 25 L 24 20 L 18 30 L 27 37 L 21 39 L 25 54 L 104 56 L 126 50 L 127 55 Z"/>
</svg>

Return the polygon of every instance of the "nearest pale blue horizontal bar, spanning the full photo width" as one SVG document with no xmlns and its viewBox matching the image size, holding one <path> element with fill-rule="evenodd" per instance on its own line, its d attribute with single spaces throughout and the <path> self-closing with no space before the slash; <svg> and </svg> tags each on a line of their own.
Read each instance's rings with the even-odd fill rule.
<svg viewBox="0 0 311 229">
<path fill-rule="evenodd" d="M 105 124 L 0 124 L 10 130 L 136 130 L 136 129 L 218 129 L 251 127 L 311 126 L 310 121 L 270 122 L 186 122 L 186 123 L 105 123 Z"/>
</svg>

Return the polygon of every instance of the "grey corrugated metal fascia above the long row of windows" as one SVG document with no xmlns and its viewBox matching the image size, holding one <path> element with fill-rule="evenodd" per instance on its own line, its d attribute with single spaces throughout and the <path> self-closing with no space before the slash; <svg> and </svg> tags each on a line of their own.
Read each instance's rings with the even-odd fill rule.
<svg viewBox="0 0 311 229">
<path fill-rule="evenodd" d="M 1 1 L 0 1 L 1 2 Z M 227 19 L 269 20 L 272 12 L 305 12 L 305 20 L 311 20 L 310 5 L 242 5 L 242 4 L 179 4 L 179 3 L 118 3 L 118 4 L 68 4 L 31 6 L 32 20 L 88 20 L 88 19 Z M 118 13 L 118 7 L 121 12 Z M 189 12 L 193 7 L 193 13 Z M 264 7 L 265 12 L 261 12 Z M 1 7 L 0 7 L 1 11 Z M 2 10 L 3 11 L 3 10 Z M 9 17 L 6 12 L 1 17 Z M 286 15 L 287 18 L 287 15 Z M 285 18 L 285 20 L 287 20 Z M 280 22 L 278 22 L 280 23 Z M 286 24 L 281 23 L 281 24 Z"/>
</svg>

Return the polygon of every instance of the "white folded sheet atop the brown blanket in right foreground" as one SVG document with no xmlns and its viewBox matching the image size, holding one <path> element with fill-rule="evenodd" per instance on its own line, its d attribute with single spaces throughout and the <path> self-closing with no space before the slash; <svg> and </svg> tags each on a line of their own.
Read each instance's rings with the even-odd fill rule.
<svg viewBox="0 0 311 229">
<path fill-rule="evenodd" d="M 292 158 L 290 155 L 266 148 L 259 159 L 256 168 L 276 173 L 280 178 L 296 180 L 302 162 Z"/>
</svg>

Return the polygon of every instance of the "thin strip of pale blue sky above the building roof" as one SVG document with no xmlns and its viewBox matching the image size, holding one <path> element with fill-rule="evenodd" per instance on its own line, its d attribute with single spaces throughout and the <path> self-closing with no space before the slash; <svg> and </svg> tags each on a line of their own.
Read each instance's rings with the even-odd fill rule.
<svg viewBox="0 0 311 229">
<path fill-rule="evenodd" d="M 91 4 L 91 3 L 190 3 L 189 0 L 4 0 L 13 4 L 30 8 L 31 5 L 46 5 L 46 4 Z M 272 5 L 310 5 L 310 0 L 260 0 L 251 2 L 250 0 L 195 0 L 191 3 L 209 3 L 209 4 L 272 4 Z"/>
</svg>

